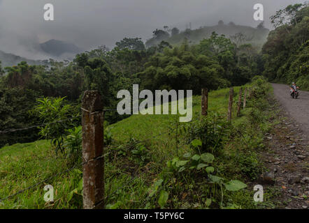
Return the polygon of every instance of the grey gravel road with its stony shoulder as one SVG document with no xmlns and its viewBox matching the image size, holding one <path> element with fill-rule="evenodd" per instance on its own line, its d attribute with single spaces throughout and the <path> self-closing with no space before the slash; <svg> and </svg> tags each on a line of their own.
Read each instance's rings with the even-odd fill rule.
<svg viewBox="0 0 309 223">
<path fill-rule="evenodd" d="M 309 207 L 309 92 L 299 99 L 289 95 L 289 86 L 273 84 L 276 112 L 272 130 L 266 134 L 266 150 L 261 160 L 266 172 L 259 184 L 272 192 L 273 208 L 308 209 Z"/>
</svg>

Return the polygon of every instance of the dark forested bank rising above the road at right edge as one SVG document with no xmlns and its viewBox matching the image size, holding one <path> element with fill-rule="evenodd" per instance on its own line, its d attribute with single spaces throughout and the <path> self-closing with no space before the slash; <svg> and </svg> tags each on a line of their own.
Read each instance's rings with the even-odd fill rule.
<svg viewBox="0 0 309 223">
<path fill-rule="evenodd" d="M 264 76 L 271 82 L 296 82 L 309 89 L 309 7 L 296 4 L 271 17 L 276 27 L 263 47 Z"/>
</svg>

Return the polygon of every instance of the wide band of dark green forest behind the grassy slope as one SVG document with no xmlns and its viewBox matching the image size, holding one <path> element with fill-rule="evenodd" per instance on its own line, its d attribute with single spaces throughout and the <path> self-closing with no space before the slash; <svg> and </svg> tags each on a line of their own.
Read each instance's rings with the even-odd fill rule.
<svg viewBox="0 0 309 223">
<path fill-rule="evenodd" d="M 50 66 L 29 66 L 26 62 L 1 69 L 1 129 L 24 128 L 39 122 L 31 112 L 37 98 L 66 97 L 78 104 L 82 92 L 97 89 L 103 95 L 104 106 L 117 106 L 117 91 L 131 89 L 192 89 L 200 94 L 201 87 L 224 88 L 245 84 L 261 73 L 261 56 L 251 45 L 237 47 L 225 36 L 213 33 L 199 45 L 172 46 L 162 41 L 156 47 L 145 48 L 140 38 L 124 38 L 117 47 L 99 47 L 76 55 L 72 62 L 50 60 Z M 5 74 L 5 75 L 4 75 Z M 73 113 L 72 113 L 73 114 Z M 117 121 L 116 113 L 107 121 Z M 2 137 L 1 145 L 16 140 L 36 139 L 34 134 Z"/>
</svg>

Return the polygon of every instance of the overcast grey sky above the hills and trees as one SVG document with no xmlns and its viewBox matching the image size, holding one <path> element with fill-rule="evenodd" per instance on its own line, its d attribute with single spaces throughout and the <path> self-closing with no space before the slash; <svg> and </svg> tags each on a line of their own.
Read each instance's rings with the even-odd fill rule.
<svg viewBox="0 0 309 223">
<path fill-rule="evenodd" d="M 257 26 L 255 3 L 264 5 L 265 26 L 269 17 L 296 0 L 0 0 L 0 49 L 36 57 L 36 45 L 57 39 L 83 49 L 113 47 L 124 37 L 151 38 L 164 25 L 192 22 L 192 29 L 225 23 Z M 55 21 L 43 20 L 43 6 L 52 3 Z M 31 53 L 34 55 L 31 55 Z"/>
</svg>

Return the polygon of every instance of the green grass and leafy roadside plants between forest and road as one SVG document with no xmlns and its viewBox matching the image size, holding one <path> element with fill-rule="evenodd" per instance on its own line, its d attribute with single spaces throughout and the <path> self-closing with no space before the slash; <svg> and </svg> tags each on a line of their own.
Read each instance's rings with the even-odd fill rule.
<svg viewBox="0 0 309 223">
<path fill-rule="evenodd" d="M 201 97 L 194 96 L 193 121 L 178 123 L 177 142 L 175 115 L 133 115 L 106 123 L 106 208 L 260 207 L 250 182 L 263 168 L 257 151 L 264 149 L 264 134 L 271 128 L 265 114 L 270 86 L 254 77 L 245 87 L 252 87 L 247 107 L 238 118 L 233 112 L 231 123 L 226 121 L 229 89 L 210 92 L 207 117 L 200 115 Z M 234 98 L 236 107 L 237 93 Z M 69 132 L 63 148 L 78 153 L 80 130 Z M 1 148 L 1 197 L 59 173 L 3 201 L 1 208 L 82 208 L 82 171 L 74 167 L 81 160 L 72 163 L 69 153 L 56 155 L 55 148 L 48 140 Z M 54 203 L 43 200 L 47 184 L 54 186 Z"/>
</svg>

